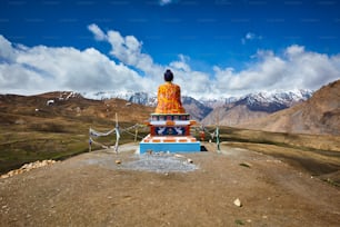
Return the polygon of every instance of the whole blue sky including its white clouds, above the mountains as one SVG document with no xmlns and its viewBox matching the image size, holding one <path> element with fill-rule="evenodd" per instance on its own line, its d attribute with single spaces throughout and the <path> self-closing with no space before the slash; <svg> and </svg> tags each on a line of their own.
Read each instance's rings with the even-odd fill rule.
<svg viewBox="0 0 340 227">
<path fill-rule="evenodd" d="M 0 93 L 152 91 L 228 97 L 340 78 L 334 0 L 2 0 Z"/>
</svg>

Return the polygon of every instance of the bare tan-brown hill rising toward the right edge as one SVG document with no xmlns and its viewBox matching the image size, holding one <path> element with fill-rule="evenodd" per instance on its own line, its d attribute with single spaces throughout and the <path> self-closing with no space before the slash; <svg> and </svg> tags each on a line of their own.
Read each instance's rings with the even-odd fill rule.
<svg viewBox="0 0 340 227">
<path fill-rule="evenodd" d="M 322 87 L 300 105 L 238 127 L 293 134 L 340 135 L 340 80 Z"/>
</svg>

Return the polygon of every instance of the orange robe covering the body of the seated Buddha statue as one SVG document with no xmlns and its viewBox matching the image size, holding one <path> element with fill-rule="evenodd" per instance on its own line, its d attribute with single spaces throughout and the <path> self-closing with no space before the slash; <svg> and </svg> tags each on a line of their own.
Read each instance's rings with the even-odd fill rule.
<svg viewBox="0 0 340 227">
<path fill-rule="evenodd" d="M 158 88 L 156 114 L 186 114 L 178 85 L 166 82 Z"/>
</svg>

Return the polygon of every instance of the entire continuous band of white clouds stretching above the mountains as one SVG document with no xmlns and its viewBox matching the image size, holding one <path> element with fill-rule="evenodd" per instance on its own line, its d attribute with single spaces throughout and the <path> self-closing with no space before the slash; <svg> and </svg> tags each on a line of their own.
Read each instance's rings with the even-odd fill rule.
<svg viewBox="0 0 340 227">
<path fill-rule="evenodd" d="M 94 48 L 26 47 L 0 34 L 0 93 L 31 95 L 52 90 L 157 92 L 167 68 L 182 95 L 196 98 L 240 96 L 253 91 L 319 89 L 340 78 L 340 55 L 328 56 L 287 47 L 279 53 L 258 50 L 247 68 L 212 66 L 212 72 L 192 69 L 182 53 L 167 66 L 143 52 L 134 36 L 103 31 L 89 24 L 93 39 L 111 46 L 109 56 Z M 218 62 L 217 62 L 218 63 Z"/>
</svg>

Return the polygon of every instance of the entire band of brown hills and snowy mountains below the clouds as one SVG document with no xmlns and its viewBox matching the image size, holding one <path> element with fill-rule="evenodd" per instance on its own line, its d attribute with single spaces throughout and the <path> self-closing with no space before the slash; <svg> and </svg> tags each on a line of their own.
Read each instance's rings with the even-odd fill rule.
<svg viewBox="0 0 340 227">
<path fill-rule="evenodd" d="M 310 91 L 299 90 L 280 93 L 258 92 L 224 100 L 196 100 L 192 97 L 182 97 L 182 102 L 187 112 L 206 126 L 339 135 L 339 92 L 340 80 L 323 86 L 313 95 Z M 97 93 L 101 100 L 88 99 L 72 91 L 54 91 L 29 97 L 0 95 L 0 107 L 3 114 L 1 121 L 20 124 L 26 120 L 22 117 L 16 117 L 17 114 L 46 116 L 46 118 L 71 115 L 94 120 L 97 118 L 114 119 L 114 114 L 118 112 L 120 120 L 143 122 L 154 110 L 157 101 L 154 96 L 147 92 L 120 96 L 124 99 L 102 95 L 107 93 Z M 151 107 L 134 102 L 147 102 Z M 49 108 L 50 103 L 52 107 Z M 6 112 L 11 112 L 11 116 L 4 116 Z"/>
</svg>

